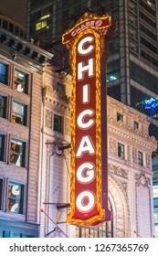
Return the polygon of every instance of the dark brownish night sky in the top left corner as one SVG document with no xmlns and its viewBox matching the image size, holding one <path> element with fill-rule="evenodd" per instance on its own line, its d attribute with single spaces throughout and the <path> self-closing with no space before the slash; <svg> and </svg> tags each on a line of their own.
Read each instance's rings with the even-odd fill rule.
<svg viewBox="0 0 158 256">
<path fill-rule="evenodd" d="M 0 14 L 14 18 L 26 27 L 27 0 L 0 0 Z"/>
</svg>

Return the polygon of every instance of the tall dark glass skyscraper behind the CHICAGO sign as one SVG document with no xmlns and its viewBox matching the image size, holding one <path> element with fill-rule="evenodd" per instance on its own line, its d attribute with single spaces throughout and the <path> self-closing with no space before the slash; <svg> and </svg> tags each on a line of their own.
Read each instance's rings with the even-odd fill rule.
<svg viewBox="0 0 158 256">
<path fill-rule="evenodd" d="M 158 137 L 157 8 L 157 0 L 28 0 L 26 35 L 55 54 L 54 64 L 60 70 L 68 63 L 61 44 L 63 32 L 86 10 L 110 14 L 118 29 L 111 41 L 108 94 L 145 113 L 151 122 L 150 133 Z"/>
</svg>

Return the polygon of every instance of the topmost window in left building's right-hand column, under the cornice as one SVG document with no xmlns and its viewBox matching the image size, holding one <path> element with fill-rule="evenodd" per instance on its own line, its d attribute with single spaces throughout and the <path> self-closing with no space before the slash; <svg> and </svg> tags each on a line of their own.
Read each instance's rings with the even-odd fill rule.
<svg viewBox="0 0 158 256">
<path fill-rule="evenodd" d="M 27 93 L 27 80 L 28 80 L 28 75 L 26 73 L 15 69 L 13 88 L 16 91 L 22 91 Z"/>
</svg>

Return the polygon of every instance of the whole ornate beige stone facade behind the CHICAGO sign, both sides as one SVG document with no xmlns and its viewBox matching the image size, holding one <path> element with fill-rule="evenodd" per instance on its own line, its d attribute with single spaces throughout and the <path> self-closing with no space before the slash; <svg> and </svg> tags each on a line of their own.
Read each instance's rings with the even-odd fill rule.
<svg viewBox="0 0 158 256">
<path fill-rule="evenodd" d="M 152 237 L 152 152 L 156 141 L 149 136 L 145 115 L 111 97 L 108 97 L 107 119 L 112 219 L 96 228 L 67 225 L 70 151 L 58 150 L 58 144 L 70 144 L 70 80 L 64 73 L 58 75 L 52 71 L 51 75 L 47 70 L 44 77 L 41 207 L 48 216 L 41 215 L 41 236 Z M 61 117 L 61 123 L 58 122 L 61 127 L 53 131 L 57 129 L 57 116 Z"/>
</svg>

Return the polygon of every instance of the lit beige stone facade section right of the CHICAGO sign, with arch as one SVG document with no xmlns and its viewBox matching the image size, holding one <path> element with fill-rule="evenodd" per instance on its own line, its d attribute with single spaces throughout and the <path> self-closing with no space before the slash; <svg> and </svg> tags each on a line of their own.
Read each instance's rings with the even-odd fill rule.
<svg viewBox="0 0 158 256">
<path fill-rule="evenodd" d="M 117 122 L 117 112 L 123 122 Z M 133 122 L 139 129 L 133 129 Z M 114 237 L 153 236 L 152 152 L 156 141 L 148 134 L 146 116 L 108 97 L 109 197 L 113 208 Z M 124 144 L 125 159 L 118 156 Z M 143 165 L 138 163 L 138 151 Z"/>
</svg>

